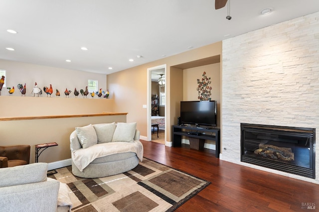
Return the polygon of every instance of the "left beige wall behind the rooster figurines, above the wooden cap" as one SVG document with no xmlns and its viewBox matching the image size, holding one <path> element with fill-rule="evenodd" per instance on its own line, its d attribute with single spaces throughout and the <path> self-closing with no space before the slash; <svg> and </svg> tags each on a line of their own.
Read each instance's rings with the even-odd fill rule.
<svg viewBox="0 0 319 212">
<path fill-rule="evenodd" d="M 80 94 L 75 98 L 74 88 L 85 89 L 88 80 L 98 80 L 99 88 L 106 90 L 106 75 L 83 71 L 53 68 L 28 63 L 0 60 L 0 69 L 6 70 L 5 82 L 8 87 L 26 83 L 26 95 L 21 97 L 16 89 L 13 96 L 8 96 L 7 89 L 2 88 L 0 96 L 0 117 L 40 116 L 40 115 L 73 115 L 102 112 L 116 112 L 112 95 L 109 99 L 83 98 Z M 43 90 L 44 86 L 52 84 L 54 93 L 51 98 L 46 94 L 33 97 L 31 94 L 34 83 Z M 65 89 L 71 90 L 69 98 L 64 95 Z M 61 93 L 55 96 L 55 89 Z"/>
</svg>

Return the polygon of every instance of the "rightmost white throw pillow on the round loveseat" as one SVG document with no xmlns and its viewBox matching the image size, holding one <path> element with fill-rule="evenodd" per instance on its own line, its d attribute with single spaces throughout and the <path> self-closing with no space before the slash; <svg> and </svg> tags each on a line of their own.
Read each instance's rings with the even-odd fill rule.
<svg viewBox="0 0 319 212">
<path fill-rule="evenodd" d="M 124 141 L 133 142 L 136 131 L 136 122 L 118 123 L 112 138 L 112 142 Z"/>
</svg>

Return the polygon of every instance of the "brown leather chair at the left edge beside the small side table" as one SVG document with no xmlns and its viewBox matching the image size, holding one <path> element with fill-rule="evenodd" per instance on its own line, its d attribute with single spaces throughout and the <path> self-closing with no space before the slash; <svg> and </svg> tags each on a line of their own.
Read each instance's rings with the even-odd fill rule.
<svg viewBox="0 0 319 212">
<path fill-rule="evenodd" d="M 26 165 L 30 162 L 30 145 L 0 146 L 0 168 Z"/>
</svg>

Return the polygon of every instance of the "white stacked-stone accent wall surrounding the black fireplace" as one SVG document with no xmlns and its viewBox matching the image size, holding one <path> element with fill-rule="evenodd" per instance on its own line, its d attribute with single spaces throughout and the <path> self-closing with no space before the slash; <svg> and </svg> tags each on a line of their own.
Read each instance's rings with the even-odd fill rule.
<svg viewBox="0 0 319 212">
<path fill-rule="evenodd" d="M 240 162 L 240 123 L 319 129 L 319 12 L 223 41 L 222 160 Z M 225 149 L 224 149 L 225 148 Z"/>
</svg>

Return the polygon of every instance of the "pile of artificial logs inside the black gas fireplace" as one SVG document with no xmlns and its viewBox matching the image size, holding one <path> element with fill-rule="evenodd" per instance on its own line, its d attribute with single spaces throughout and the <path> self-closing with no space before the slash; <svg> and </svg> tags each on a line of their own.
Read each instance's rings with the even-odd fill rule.
<svg viewBox="0 0 319 212">
<path fill-rule="evenodd" d="M 259 144 L 259 149 L 254 151 L 257 155 L 263 155 L 264 157 L 279 159 L 283 161 L 294 161 L 295 154 L 292 152 L 291 148 L 278 147 L 268 144 Z"/>
</svg>

